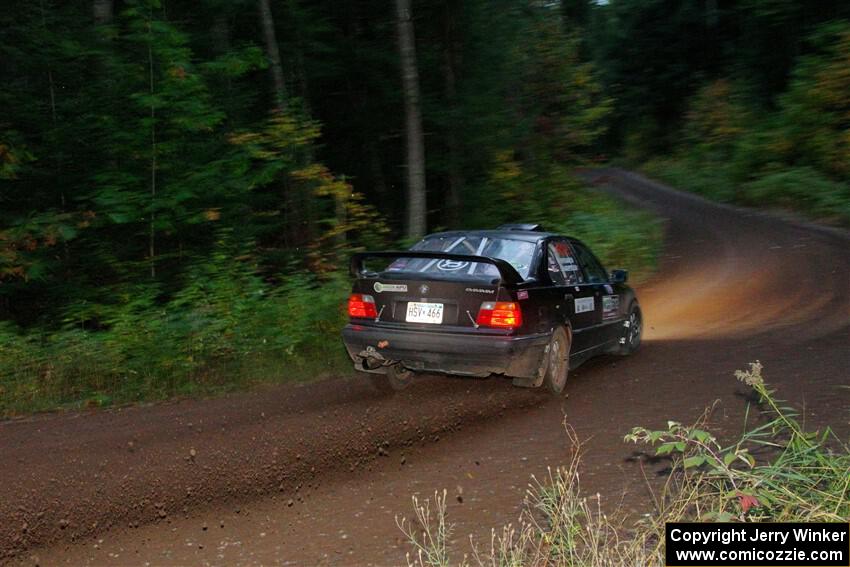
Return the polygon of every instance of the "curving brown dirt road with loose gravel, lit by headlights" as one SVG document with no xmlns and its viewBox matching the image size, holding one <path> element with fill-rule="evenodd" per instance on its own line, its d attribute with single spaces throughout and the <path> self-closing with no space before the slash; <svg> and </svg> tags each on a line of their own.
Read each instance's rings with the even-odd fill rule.
<svg viewBox="0 0 850 567">
<path fill-rule="evenodd" d="M 850 240 L 704 202 L 619 170 L 585 174 L 668 222 L 639 289 L 642 350 L 592 361 L 553 399 L 432 376 L 394 398 L 359 380 L 0 424 L 0 554 L 41 564 L 399 564 L 412 494 L 447 489 L 455 547 L 514 521 L 532 474 L 587 441 L 589 494 L 640 510 L 634 425 L 688 421 L 760 359 L 806 419 L 850 431 Z M 612 266 L 613 267 L 613 266 Z M 0 555 L 2 556 L 2 555 Z"/>
</svg>

